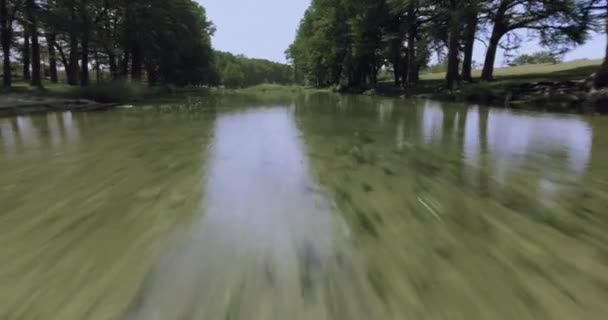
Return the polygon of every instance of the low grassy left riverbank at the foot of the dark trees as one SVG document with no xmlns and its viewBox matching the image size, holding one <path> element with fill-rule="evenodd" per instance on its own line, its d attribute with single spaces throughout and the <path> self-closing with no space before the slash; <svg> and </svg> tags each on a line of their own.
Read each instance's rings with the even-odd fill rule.
<svg viewBox="0 0 608 320">
<path fill-rule="evenodd" d="M 197 98 L 226 96 L 243 99 L 282 101 L 294 95 L 330 92 L 303 86 L 263 84 L 248 88 L 209 88 L 156 86 L 126 82 L 71 87 L 65 84 L 45 84 L 43 89 L 18 83 L 10 90 L 0 90 L 0 116 L 49 111 L 102 111 L 121 105 L 172 104 Z"/>
</svg>

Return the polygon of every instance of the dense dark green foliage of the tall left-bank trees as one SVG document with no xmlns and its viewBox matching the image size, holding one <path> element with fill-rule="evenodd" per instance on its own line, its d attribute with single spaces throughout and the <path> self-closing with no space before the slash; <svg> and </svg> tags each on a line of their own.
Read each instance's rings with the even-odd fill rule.
<svg viewBox="0 0 608 320">
<path fill-rule="evenodd" d="M 59 69 L 65 70 L 71 85 L 88 85 L 91 66 L 98 68 L 100 74 L 109 70 L 113 80 L 130 77 L 131 81 L 141 82 L 145 78 L 151 85 L 199 86 L 219 82 L 211 47 L 215 28 L 204 8 L 194 0 L 28 3 L 30 10 L 17 12 L 14 24 L 21 26 L 15 28 L 32 28 L 28 21 L 40 21 L 36 29 L 40 37 L 46 38 L 47 48 L 43 51 L 49 54 L 48 66 L 53 65 L 49 73 L 56 74 L 55 65 L 61 63 Z M 26 15 L 28 19 L 24 19 Z M 22 33 L 15 34 L 18 37 Z M 3 46 L 22 42 L 10 40 Z M 17 61 L 27 54 L 20 53 Z M 34 62 L 41 59 L 35 55 L 32 58 Z"/>
</svg>

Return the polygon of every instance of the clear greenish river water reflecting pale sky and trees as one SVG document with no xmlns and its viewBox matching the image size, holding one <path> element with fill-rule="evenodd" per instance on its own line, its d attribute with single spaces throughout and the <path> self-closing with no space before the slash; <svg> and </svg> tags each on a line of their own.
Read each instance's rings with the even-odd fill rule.
<svg viewBox="0 0 608 320">
<path fill-rule="evenodd" d="M 0 118 L 0 319 L 605 319 L 608 118 L 212 100 Z"/>
</svg>

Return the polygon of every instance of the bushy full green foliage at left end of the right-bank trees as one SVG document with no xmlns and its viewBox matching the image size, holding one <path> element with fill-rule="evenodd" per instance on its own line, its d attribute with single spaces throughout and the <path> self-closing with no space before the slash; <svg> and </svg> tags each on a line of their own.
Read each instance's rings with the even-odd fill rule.
<svg viewBox="0 0 608 320">
<path fill-rule="evenodd" d="M 375 82 L 387 15 L 384 1 L 313 1 L 286 52 L 296 78 L 314 86 Z"/>
</svg>

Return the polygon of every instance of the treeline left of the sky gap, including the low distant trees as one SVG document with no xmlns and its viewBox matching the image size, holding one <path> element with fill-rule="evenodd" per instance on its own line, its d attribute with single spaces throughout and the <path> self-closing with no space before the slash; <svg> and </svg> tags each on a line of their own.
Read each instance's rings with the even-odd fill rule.
<svg viewBox="0 0 608 320">
<path fill-rule="evenodd" d="M 0 0 L 3 86 L 291 82 L 289 66 L 214 51 L 214 32 L 192 0 Z"/>
</svg>

